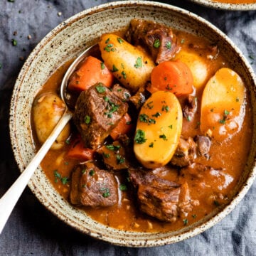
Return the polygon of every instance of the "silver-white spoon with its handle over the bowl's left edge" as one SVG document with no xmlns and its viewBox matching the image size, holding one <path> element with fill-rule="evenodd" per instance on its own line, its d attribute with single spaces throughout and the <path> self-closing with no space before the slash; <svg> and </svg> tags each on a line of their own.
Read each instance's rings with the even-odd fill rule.
<svg viewBox="0 0 256 256">
<path fill-rule="evenodd" d="M 4 229 L 4 225 L 9 219 L 9 216 L 11 215 L 11 212 L 14 209 L 14 206 L 16 205 L 18 198 L 20 198 L 21 193 L 26 188 L 28 181 L 30 180 L 34 171 L 36 171 L 38 165 L 41 163 L 44 156 L 46 156 L 46 153 L 50 149 L 50 146 L 52 146 L 53 142 L 55 142 L 55 139 L 57 139 L 58 135 L 63 130 L 65 125 L 73 117 L 73 112 L 71 111 L 72 106 L 70 106 L 70 102 L 69 102 L 70 99 L 67 98 L 68 93 L 66 92 L 66 88 L 68 86 L 68 79 L 70 78 L 70 75 L 74 72 L 75 68 L 77 68 L 81 60 L 85 58 L 85 55 L 89 55 L 90 51 L 95 50 L 94 49 L 95 46 L 96 45 L 90 46 L 90 48 L 87 48 L 83 53 L 81 53 L 78 56 L 78 58 L 76 58 L 73 61 L 73 63 L 68 68 L 60 86 L 60 97 L 63 100 L 63 102 L 65 102 L 65 106 L 66 106 L 63 116 L 60 118 L 58 124 L 53 129 L 53 132 L 51 132 L 48 139 L 46 139 L 46 142 L 41 146 L 41 149 L 39 149 L 39 151 L 33 157 L 30 164 L 28 164 L 26 169 L 17 178 L 17 180 L 14 182 L 11 188 L 9 188 L 9 190 L 6 191 L 4 196 L 1 197 L 0 199 L 0 234 Z"/>
</svg>

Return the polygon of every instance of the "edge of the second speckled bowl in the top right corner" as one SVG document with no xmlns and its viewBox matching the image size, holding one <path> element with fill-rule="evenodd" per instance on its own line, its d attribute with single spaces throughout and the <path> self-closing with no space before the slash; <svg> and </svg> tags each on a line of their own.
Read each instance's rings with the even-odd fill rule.
<svg viewBox="0 0 256 256">
<path fill-rule="evenodd" d="M 213 9 L 223 9 L 228 11 L 256 10 L 256 3 L 255 4 L 228 4 L 228 3 L 220 3 L 213 0 L 190 0 L 190 1 L 196 4 L 200 4 L 202 6 L 213 8 Z"/>
</svg>

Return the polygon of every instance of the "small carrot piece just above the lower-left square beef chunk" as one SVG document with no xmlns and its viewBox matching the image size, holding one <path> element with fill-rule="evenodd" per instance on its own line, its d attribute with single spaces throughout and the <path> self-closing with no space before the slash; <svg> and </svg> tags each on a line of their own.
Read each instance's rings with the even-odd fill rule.
<svg viewBox="0 0 256 256">
<path fill-rule="evenodd" d="M 82 139 L 78 137 L 75 139 L 70 150 L 67 153 L 67 157 L 70 159 L 78 159 L 81 161 L 87 161 L 93 159 L 94 151 L 92 149 L 87 149 L 83 146 Z"/>
</svg>

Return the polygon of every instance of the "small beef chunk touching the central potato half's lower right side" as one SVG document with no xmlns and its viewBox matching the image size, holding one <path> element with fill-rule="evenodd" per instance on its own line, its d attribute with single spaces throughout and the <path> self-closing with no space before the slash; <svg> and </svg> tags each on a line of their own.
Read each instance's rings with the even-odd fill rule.
<svg viewBox="0 0 256 256">
<path fill-rule="evenodd" d="M 196 143 L 191 137 L 180 138 L 171 164 L 179 167 L 188 166 L 196 159 Z"/>
</svg>

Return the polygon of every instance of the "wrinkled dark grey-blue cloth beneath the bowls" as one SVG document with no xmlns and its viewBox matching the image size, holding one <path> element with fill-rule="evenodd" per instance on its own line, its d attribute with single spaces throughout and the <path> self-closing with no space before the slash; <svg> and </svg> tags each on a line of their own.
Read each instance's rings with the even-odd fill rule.
<svg viewBox="0 0 256 256">
<path fill-rule="evenodd" d="M 11 92 L 23 61 L 58 23 L 105 2 L 0 1 L 0 196 L 19 174 L 8 123 Z M 165 2 L 212 22 L 228 34 L 256 70 L 256 11 L 213 10 L 182 0 Z M 26 188 L 0 235 L 0 255 L 256 255 L 256 182 L 235 210 L 213 228 L 174 245 L 150 248 L 117 247 L 82 235 L 49 213 Z"/>
</svg>

